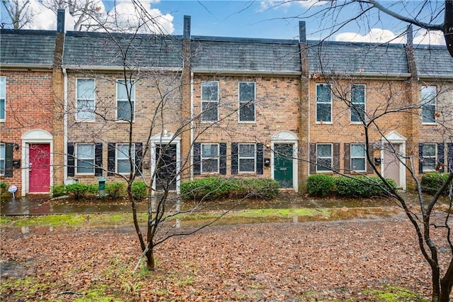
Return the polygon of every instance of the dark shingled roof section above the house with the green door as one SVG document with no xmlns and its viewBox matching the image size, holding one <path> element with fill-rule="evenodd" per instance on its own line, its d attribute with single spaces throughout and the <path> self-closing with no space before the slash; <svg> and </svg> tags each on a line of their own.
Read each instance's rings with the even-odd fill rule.
<svg viewBox="0 0 453 302">
<path fill-rule="evenodd" d="M 212 72 L 300 72 L 297 40 L 193 36 L 190 66 Z"/>
</svg>

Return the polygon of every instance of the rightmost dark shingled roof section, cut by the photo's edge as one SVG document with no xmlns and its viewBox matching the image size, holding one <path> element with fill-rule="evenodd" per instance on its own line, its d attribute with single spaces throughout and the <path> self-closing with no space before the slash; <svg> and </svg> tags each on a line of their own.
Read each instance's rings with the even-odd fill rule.
<svg viewBox="0 0 453 302">
<path fill-rule="evenodd" d="M 419 45 L 414 52 L 419 76 L 449 75 L 453 78 L 453 57 L 446 46 Z"/>
</svg>

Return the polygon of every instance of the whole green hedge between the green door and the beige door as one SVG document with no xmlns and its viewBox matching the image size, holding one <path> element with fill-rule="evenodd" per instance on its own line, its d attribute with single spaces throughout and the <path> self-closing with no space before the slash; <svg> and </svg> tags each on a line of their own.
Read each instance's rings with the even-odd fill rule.
<svg viewBox="0 0 453 302">
<path fill-rule="evenodd" d="M 397 188 L 393 179 L 386 181 Z M 331 175 L 314 174 L 306 181 L 306 189 L 311 196 L 349 196 L 349 197 L 387 197 L 386 186 L 379 177 L 333 177 Z"/>
</svg>

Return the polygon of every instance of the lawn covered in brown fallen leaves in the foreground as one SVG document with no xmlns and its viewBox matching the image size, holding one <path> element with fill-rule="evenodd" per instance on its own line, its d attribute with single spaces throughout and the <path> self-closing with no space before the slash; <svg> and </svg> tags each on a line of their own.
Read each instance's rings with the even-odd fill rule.
<svg viewBox="0 0 453 302">
<path fill-rule="evenodd" d="M 156 271 L 131 276 L 132 228 L 4 229 L 0 300 L 423 301 L 417 244 L 401 215 L 219 225 L 159 245 Z"/>
</svg>

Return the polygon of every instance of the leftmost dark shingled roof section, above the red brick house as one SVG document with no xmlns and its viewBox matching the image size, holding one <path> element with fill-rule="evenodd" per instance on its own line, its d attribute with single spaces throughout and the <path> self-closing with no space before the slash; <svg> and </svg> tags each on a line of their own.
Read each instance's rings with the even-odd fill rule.
<svg viewBox="0 0 453 302">
<path fill-rule="evenodd" d="M 55 30 L 0 30 L 1 65 L 52 67 Z"/>
</svg>

